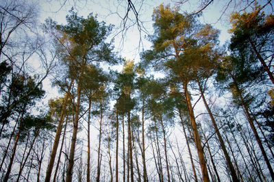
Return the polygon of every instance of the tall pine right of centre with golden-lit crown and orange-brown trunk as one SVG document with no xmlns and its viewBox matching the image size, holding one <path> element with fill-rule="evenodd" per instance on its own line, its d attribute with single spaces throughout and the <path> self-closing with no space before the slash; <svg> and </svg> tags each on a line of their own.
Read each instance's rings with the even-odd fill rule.
<svg viewBox="0 0 274 182">
<path fill-rule="evenodd" d="M 201 64 L 195 60 L 197 40 L 192 36 L 199 32 L 199 25 L 194 16 L 180 14 L 178 9 L 171 9 L 169 6 L 160 5 L 153 12 L 154 35 L 151 36 L 153 50 L 144 53 L 144 60 L 154 61 L 159 69 L 171 70 L 181 79 L 184 96 L 188 106 L 188 114 L 192 126 L 195 144 L 199 156 L 203 181 L 210 181 L 206 167 L 206 159 L 203 156 L 203 147 L 199 136 L 195 115 L 190 101 L 188 83 L 193 80 L 197 68 Z"/>
</svg>

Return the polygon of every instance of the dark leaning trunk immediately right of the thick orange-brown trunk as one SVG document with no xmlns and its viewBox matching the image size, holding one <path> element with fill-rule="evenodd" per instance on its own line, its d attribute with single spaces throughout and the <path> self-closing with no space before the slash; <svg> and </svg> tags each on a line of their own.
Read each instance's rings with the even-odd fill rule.
<svg viewBox="0 0 274 182">
<path fill-rule="evenodd" d="M 229 168 L 230 174 L 232 176 L 232 181 L 239 182 L 240 180 L 237 177 L 237 174 L 236 174 L 236 171 L 235 171 L 234 166 L 232 164 L 232 161 L 231 161 L 231 159 L 229 157 L 229 154 L 227 153 L 227 149 L 225 148 L 225 142 L 223 142 L 223 138 L 222 138 L 221 133 L 219 131 L 219 128 L 218 128 L 218 126 L 216 124 L 215 118 L 214 118 L 214 116 L 213 116 L 213 114 L 211 112 L 210 107 L 208 106 L 208 103 L 206 102 L 206 98 L 205 98 L 205 96 L 203 94 L 203 89 L 201 88 L 201 83 L 199 82 L 199 80 L 197 80 L 197 83 L 198 83 L 198 86 L 199 86 L 199 90 L 201 92 L 201 97 L 203 99 L 203 103 L 206 106 L 206 110 L 208 111 L 208 114 L 210 115 L 210 119 L 212 121 L 212 125 L 213 125 L 213 127 L 214 127 L 214 129 L 216 131 L 217 136 L 218 136 L 218 139 L 219 139 L 219 142 L 220 142 L 223 154 L 225 155 L 225 160 L 227 162 L 227 167 Z M 218 177 L 218 175 L 217 175 L 217 177 Z"/>
</svg>

